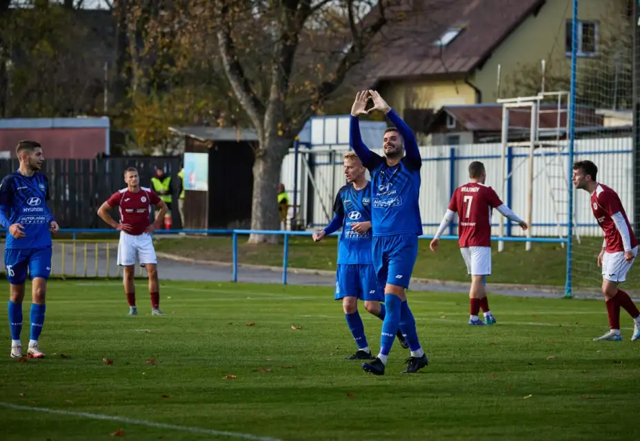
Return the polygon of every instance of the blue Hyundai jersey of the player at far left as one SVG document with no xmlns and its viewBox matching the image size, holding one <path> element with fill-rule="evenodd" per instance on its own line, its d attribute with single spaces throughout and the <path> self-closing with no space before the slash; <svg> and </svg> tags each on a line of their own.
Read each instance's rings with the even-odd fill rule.
<svg viewBox="0 0 640 441">
<path fill-rule="evenodd" d="M 54 217 L 47 206 L 48 199 L 49 182 L 44 174 L 23 176 L 14 172 L 3 178 L 0 209 L 9 219 L 9 225 L 19 223 L 25 233 L 23 238 L 16 239 L 7 232 L 6 249 L 40 248 L 52 244 L 49 223 Z"/>
</svg>

